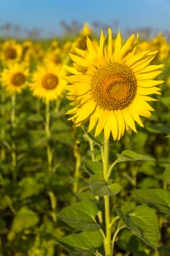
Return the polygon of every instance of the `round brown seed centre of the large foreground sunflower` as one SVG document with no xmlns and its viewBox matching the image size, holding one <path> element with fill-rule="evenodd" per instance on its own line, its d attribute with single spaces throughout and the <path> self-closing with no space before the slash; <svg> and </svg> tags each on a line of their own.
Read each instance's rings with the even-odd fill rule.
<svg viewBox="0 0 170 256">
<path fill-rule="evenodd" d="M 107 110 L 126 108 L 136 95 L 136 78 L 132 70 L 117 62 L 96 69 L 91 92 L 97 105 Z"/>
</svg>

